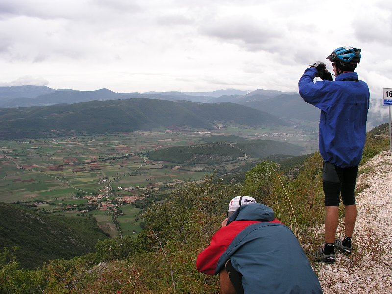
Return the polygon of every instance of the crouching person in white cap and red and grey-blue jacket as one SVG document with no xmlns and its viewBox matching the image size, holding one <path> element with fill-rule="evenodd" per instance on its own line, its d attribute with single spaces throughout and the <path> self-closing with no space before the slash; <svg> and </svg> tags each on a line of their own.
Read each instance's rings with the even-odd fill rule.
<svg viewBox="0 0 392 294">
<path fill-rule="evenodd" d="M 322 293 L 293 232 L 252 197 L 230 201 L 228 219 L 198 255 L 196 267 L 219 274 L 221 294 Z"/>
</svg>

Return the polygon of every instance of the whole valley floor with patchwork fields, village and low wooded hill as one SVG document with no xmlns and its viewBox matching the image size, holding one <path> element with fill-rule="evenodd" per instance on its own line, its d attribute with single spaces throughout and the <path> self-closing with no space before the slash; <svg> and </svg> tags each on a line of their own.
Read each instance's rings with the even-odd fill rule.
<svg viewBox="0 0 392 294">
<path fill-rule="evenodd" d="M 134 235 L 142 230 L 142 203 L 164 199 L 185 182 L 244 172 L 271 150 L 299 155 L 316 147 L 312 133 L 298 135 L 286 127 L 276 136 L 278 131 L 227 127 L 1 141 L 0 201 L 43 214 L 93 217 L 112 237 Z M 258 133 L 280 141 L 260 140 Z M 185 162 L 181 150 L 188 149 L 197 154 Z"/>
</svg>

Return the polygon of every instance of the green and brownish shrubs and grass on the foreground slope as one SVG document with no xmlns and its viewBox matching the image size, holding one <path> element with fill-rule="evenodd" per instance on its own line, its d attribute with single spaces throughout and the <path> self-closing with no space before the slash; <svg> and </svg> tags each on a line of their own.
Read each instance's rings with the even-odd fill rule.
<svg viewBox="0 0 392 294">
<path fill-rule="evenodd" d="M 389 149 L 387 125 L 367 134 L 362 164 Z M 294 160 L 294 159 L 293 159 Z M 306 253 L 322 243 L 324 203 L 319 153 L 296 161 L 291 180 L 278 165 L 262 161 L 239 185 L 206 178 L 187 183 L 145 212 L 146 229 L 136 238 L 98 242 L 96 252 L 72 260 L 52 260 L 38 270 L 20 268 L 9 249 L 0 253 L 2 293 L 219 293 L 217 276 L 196 270 L 196 257 L 225 217 L 229 200 L 250 195 L 271 206 Z M 353 252 L 352 258 L 361 258 Z M 355 270 L 355 269 L 354 269 Z"/>
</svg>

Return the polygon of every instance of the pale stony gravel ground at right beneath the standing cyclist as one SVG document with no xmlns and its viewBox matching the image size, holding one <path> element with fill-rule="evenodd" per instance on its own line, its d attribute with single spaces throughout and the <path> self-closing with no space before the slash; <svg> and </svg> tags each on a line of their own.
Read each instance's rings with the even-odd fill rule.
<svg viewBox="0 0 392 294">
<path fill-rule="evenodd" d="M 385 151 L 359 170 L 353 253 L 319 265 L 325 294 L 392 293 L 392 155 Z M 340 225 L 339 227 L 343 227 Z M 339 230 L 339 229 L 338 229 Z M 342 232 L 342 236 L 344 232 Z"/>
</svg>

